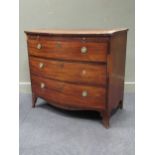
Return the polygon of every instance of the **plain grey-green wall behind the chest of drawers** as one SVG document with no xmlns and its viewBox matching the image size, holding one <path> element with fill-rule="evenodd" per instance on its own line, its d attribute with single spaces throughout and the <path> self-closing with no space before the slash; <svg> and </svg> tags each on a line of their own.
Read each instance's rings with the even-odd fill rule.
<svg viewBox="0 0 155 155">
<path fill-rule="evenodd" d="M 24 30 L 36 28 L 129 28 L 125 81 L 134 82 L 134 4 L 134 0 L 20 0 L 20 91 L 30 90 Z"/>
</svg>

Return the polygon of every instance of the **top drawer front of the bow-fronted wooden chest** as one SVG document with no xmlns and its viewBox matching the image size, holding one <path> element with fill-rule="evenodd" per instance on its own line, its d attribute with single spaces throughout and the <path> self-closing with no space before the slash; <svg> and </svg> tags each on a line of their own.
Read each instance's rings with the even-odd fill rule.
<svg viewBox="0 0 155 155">
<path fill-rule="evenodd" d="M 28 39 L 30 55 L 60 60 L 106 62 L 107 41 L 75 38 Z"/>
</svg>

